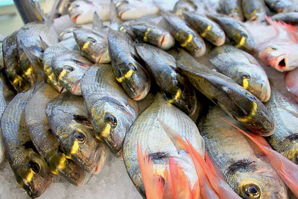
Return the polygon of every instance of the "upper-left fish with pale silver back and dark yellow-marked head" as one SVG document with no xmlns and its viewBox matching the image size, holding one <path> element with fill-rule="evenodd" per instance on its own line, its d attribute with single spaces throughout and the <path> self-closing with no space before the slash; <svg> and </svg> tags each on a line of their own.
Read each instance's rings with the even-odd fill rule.
<svg viewBox="0 0 298 199">
<path fill-rule="evenodd" d="M 18 59 L 26 78 L 33 85 L 35 79 L 41 82 L 44 78 L 43 72 L 43 52 L 47 46 L 58 43 L 58 35 L 54 29 L 54 25 L 49 20 L 35 21 L 23 25 L 17 32 L 17 50 Z M 41 39 L 43 41 L 41 41 Z M 34 66 L 31 66 L 29 59 L 25 55 L 21 42 L 29 50 L 33 56 Z M 45 44 L 47 46 L 45 46 Z M 36 74 L 35 74 L 36 73 Z"/>
</svg>

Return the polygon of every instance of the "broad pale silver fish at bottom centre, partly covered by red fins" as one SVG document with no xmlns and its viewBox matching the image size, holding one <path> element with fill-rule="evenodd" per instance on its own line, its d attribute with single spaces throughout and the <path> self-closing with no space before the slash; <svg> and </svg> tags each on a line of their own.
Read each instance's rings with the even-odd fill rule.
<svg viewBox="0 0 298 199">
<path fill-rule="evenodd" d="M 175 135 L 169 136 L 171 129 L 178 137 L 187 138 L 204 156 L 204 140 L 195 123 L 185 113 L 170 104 L 163 94 L 157 93 L 154 101 L 129 128 L 123 145 L 123 160 L 127 173 L 133 184 L 143 194 L 145 189 L 138 163 L 137 142 L 142 147 L 142 151 L 147 150 L 149 157 L 151 156 L 153 170 L 158 176 L 163 177 L 166 168 L 169 171 L 169 159 L 172 157 L 182 167 L 192 186 L 198 178 L 192 159 L 173 141 Z"/>
</svg>

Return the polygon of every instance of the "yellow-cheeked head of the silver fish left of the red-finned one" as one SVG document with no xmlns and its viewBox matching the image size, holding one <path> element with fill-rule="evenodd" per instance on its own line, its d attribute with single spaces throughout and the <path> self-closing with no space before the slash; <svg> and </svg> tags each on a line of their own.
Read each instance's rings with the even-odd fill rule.
<svg viewBox="0 0 298 199">
<path fill-rule="evenodd" d="M 90 112 L 96 138 L 102 141 L 116 157 L 121 157 L 124 137 L 136 116 L 116 99 L 110 97 L 97 101 Z"/>
</svg>

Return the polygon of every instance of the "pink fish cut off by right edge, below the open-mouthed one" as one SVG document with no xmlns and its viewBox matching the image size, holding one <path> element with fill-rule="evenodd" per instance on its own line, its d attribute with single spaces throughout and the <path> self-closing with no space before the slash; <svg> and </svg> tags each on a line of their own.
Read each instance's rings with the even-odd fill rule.
<svg viewBox="0 0 298 199">
<path fill-rule="evenodd" d="M 285 85 L 290 95 L 298 102 L 298 69 L 294 69 L 285 74 Z"/>
</svg>

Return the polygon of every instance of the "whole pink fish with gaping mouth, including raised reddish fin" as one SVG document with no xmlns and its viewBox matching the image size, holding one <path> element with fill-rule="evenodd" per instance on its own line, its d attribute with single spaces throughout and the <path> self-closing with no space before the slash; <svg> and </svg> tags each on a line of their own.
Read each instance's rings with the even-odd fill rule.
<svg viewBox="0 0 298 199">
<path fill-rule="evenodd" d="M 266 16 L 267 22 L 277 31 L 276 36 L 266 39 L 255 47 L 254 55 L 267 66 L 279 72 L 291 71 L 298 67 L 298 43 L 291 37 L 294 26 L 273 21 Z M 296 29 L 295 29 L 296 30 Z"/>
</svg>

